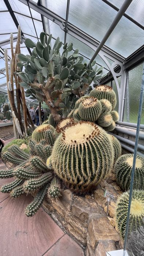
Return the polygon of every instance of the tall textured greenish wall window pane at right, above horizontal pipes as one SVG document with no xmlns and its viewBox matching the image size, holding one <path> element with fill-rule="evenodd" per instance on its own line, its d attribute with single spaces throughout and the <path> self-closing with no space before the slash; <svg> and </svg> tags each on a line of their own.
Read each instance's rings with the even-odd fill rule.
<svg viewBox="0 0 144 256">
<path fill-rule="evenodd" d="M 143 63 L 129 71 L 125 96 L 124 122 L 137 123 L 142 74 Z M 141 124 L 144 124 L 144 114 L 141 116 Z"/>
</svg>

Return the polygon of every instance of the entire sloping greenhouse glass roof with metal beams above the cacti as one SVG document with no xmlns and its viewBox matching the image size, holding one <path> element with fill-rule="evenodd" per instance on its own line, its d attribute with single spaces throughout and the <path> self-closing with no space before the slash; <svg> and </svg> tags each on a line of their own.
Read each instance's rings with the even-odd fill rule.
<svg viewBox="0 0 144 256">
<path fill-rule="evenodd" d="M 59 36 L 64 44 L 73 42 L 84 61 L 89 62 L 102 41 L 124 0 L 0 0 L 0 89 L 7 89 L 4 49 L 11 58 L 10 33 L 14 34 L 14 46 L 18 25 L 22 29 L 21 52 L 30 54 L 25 38 L 38 41 L 44 31 L 52 34 L 52 44 Z M 103 45 L 108 55 L 125 62 L 144 44 L 144 0 L 133 0 Z M 65 32 L 66 26 L 66 32 Z M 93 45 L 93 47 L 92 47 Z M 101 54 L 100 54 L 101 55 Z M 103 66 L 103 74 L 110 72 L 100 55 L 96 63 Z M 113 60 L 107 57 L 113 63 Z"/>
</svg>

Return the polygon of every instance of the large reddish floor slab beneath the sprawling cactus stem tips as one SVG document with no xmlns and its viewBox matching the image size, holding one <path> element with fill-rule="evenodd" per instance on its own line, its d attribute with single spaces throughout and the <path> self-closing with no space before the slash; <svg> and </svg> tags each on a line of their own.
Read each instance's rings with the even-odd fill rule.
<svg viewBox="0 0 144 256">
<path fill-rule="evenodd" d="M 42 208 L 35 217 L 26 217 L 24 208 L 30 202 L 31 196 L 22 196 L 0 203 L 1 256 L 41 256 L 64 235 Z"/>
</svg>

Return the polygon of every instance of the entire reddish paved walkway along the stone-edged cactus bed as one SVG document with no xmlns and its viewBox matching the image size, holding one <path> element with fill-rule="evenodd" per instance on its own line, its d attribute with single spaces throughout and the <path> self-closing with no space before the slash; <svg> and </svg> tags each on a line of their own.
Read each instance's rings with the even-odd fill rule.
<svg viewBox="0 0 144 256">
<path fill-rule="evenodd" d="M 7 167 L 0 159 L 1 169 Z M 12 179 L 0 180 L 0 187 Z M 0 192 L 0 256 L 84 256 L 83 249 L 43 208 L 34 217 L 26 217 L 24 208 L 31 200 L 31 196 L 12 199 Z"/>
</svg>

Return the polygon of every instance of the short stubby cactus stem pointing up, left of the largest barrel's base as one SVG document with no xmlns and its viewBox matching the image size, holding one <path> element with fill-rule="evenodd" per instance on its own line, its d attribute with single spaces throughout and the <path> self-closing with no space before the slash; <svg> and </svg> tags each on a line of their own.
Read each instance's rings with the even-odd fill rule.
<svg viewBox="0 0 144 256">
<path fill-rule="evenodd" d="M 50 183 L 50 187 L 48 188 L 48 197 L 51 199 L 57 199 L 61 196 L 61 188 L 60 188 L 60 182 L 56 177 L 53 178 L 53 180 Z"/>
</svg>

